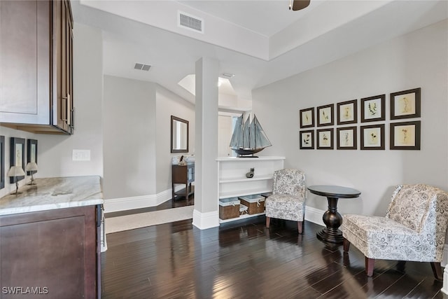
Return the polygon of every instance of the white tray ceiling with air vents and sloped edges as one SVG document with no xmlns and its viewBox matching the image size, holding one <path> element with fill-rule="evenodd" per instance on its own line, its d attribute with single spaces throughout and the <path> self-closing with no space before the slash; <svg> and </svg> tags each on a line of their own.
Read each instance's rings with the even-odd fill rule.
<svg viewBox="0 0 448 299">
<path fill-rule="evenodd" d="M 237 96 L 220 103 L 228 109 L 250 102 L 254 88 L 448 18 L 446 0 L 311 0 L 302 11 L 289 11 L 288 0 L 71 3 L 75 22 L 103 30 L 104 74 L 155 82 L 194 102 L 178 82 L 212 57 L 221 73 L 235 74 Z M 204 20 L 204 33 L 178 27 L 179 11 Z M 138 71 L 136 62 L 153 67 Z"/>
</svg>

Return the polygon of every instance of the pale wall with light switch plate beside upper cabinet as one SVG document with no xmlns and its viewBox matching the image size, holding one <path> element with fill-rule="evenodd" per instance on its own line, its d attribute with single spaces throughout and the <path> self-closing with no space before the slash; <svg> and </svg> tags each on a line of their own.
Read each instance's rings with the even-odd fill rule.
<svg viewBox="0 0 448 299">
<path fill-rule="evenodd" d="M 38 134 L 37 177 L 103 175 L 102 32 L 73 26 L 73 135 Z M 90 150 L 90 161 L 73 161 L 73 149 Z"/>
</svg>

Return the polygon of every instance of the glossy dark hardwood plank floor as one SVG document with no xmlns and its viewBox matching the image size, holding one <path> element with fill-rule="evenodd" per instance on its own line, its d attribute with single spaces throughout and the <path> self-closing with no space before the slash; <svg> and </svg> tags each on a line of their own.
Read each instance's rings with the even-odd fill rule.
<svg viewBox="0 0 448 299">
<path fill-rule="evenodd" d="M 108 234 L 102 298 L 444 298 L 429 263 L 377 260 L 366 277 L 355 246 L 344 255 L 316 239 L 319 225 L 305 221 L 297 235 L 295 223 L 272 221 L 270 229 L 258 216 L 208 230 L 186 220 Z"/>
</svg>

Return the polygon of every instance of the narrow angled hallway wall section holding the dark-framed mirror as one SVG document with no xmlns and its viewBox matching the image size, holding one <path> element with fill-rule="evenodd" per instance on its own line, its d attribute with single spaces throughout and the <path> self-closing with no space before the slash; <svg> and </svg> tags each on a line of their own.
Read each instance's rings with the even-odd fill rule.
<svg viewBox="0 0 448 299">
<path fill-rule="evenodd" d="M 188 154 L 195 153 L 195 105 L 157 85 L 156 122 L 158 130 L 156 142 L 157 192 L 171 190 L 172 157 L 183 153 L 171 153 L 171 116 L 188 120 Z M 171 198 L 171 197 L 170 197 Z"/>
</svg>

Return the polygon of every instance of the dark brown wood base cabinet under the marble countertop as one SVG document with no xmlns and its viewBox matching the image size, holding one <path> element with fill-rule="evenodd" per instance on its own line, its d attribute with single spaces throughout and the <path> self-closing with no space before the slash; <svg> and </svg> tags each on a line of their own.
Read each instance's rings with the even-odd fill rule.
<svg viewBox="0 0 448 299">
<path fill-rule="evenodd" d="M 99 298 L 98 209 L 0 216 L 0 298 Z"/>
</svg>

